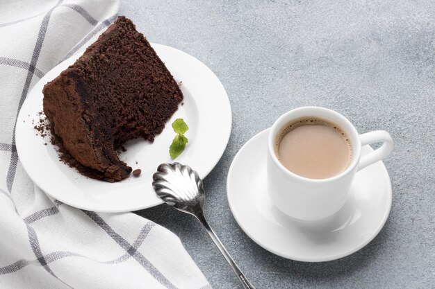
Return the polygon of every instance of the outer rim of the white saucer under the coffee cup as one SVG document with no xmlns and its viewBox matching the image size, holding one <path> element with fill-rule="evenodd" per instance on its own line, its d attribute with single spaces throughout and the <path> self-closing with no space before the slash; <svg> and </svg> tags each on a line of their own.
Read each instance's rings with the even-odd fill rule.
<svg viewBox="0 0 435 289">
<path fill-rule="evenodd" d="M 370 243 L 381 231 L 381 229 L 384 227 L 386 220 L 388 219 L 388 216 L 390 214 L 391 211 L 391 204 L 392 204 L 392 200 L 393 200 L 393 191 L 392 191 L 392 186 L 391 186 L 391 177 L 388 174 L 388 170 L 386 169 L 386 166 L 384 164 L 383 161 L 381 162 L 382 165 L 382 170 L 384 170 L 384 173 L 386 173 L 386 176 L 388 177 L 388 182 L 386 182 L 387 184 L 387 208 L 384 211 L 384 215 L 382 216 L 379 222 L 379 224 L 377 225 L 377 227 L 372 231 L 372 234 L 370 234 L 370 236 L 368 238 L 366 238 L 366 240 L 361 243 L 360 245 L 354 247 L 353 249 L 347 250 L 346 252 L 342 252 L 340 254 L 336 254 L 334 256 L 327 256 L 325 258 L 304 258 L 304 257 L 299 257 L 299 256 L 295 256 L 292 254 L 285 254 L 283 252 L 279 252 L 277 249 L 274 249 L 272 247 L 270 247 L 269 245 L 266 245 L 262 242 L 260 242 L 259 240 L 257 240 L 255 238 L 255 236 L 253 236 L 253 234 L 247 230 L 245 228 L 245 226 L 243 226 L 243 221 L 240 220 L 238 218 L 237 213 L 235 213 L 235 209 L 234 209 L 234 204 L 232 203 L 233 200 L 231 198 L 231 189 L 229 189 L 230 186 L 230 179 L 231 179 L 231 174 L 233 175 L 233 170 L 235 169 L 234 166 L 236 166 L 236 159 L 238 159 L 238 157 L 240 157 L 240 153 L 245 150 L 247 148 L 247 146 L 250 146 L 251 143 L 253 143 L 254 141 L 256 141 L 257 138 L 263 137 L 263 134 L 268 134 L 270 128 L 266 128 L 265 130 L 262 130 L 261 132 L 258 132 L 257 134 L 255 134 L 253 137 L 251 137 L 245 144 L 243 144 L 243 146 L 240 148 L 240 150 L 238 150 L 238 152 L 236 153 L 236 155 L 233 157 L 233 160 L 231 161 L 231 165 L 229 167 L 228 170 L 228 174 L 227 174 L 227 200 L 229 203 L 229 208 L 231 210 L 231 213 L 233 215 L 233 218 L 236 220 L 238 226 L 243 230 L 243 232 L 245 232 L 245 234 L 247 234 L 247 236 L 249 236 L 249 238 L 251 240 L 253 240 L 257 245 L 259 245 L 260 247 L 263 247 L 263 249 L 266 249 L 267 251 L 271 252 L 272 254 L 275 254 L 277 256 L 281 256 L 283 258 L 286 259 L 290 259 L 293 261 L 301 261 L 301 262 L 309 262 L 309 263 L 315 263 L 315 262 L 327 262 L 327 261 L 334 261 L 337 259 L 341 259 L 344 258 L 345 256 L 349 256 L 350 254 L 353 254 L 354 252 L 359 251 L 359 249 L 362 249 L 363 247 L 366 247 L 366 245 L 368 245 L 368 243 Z M 370 146 L 368 146 L 368 148 L 370 148 L 370 150 L 373 150 Z"/>
</svg>

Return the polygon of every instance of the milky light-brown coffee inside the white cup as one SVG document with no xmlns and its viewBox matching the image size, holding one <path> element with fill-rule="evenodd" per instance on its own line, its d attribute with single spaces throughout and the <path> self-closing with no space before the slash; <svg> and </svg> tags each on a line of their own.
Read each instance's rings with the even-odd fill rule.
<svg viewBox="0 0 435 289">
<path fill-rule="evenodd" d="M 275 153 L 291 172 L 309 179 L 326 179 L 349 166 L 352 145 L 338 124 L 311 116 L 281 128 Z"/>
</svg>

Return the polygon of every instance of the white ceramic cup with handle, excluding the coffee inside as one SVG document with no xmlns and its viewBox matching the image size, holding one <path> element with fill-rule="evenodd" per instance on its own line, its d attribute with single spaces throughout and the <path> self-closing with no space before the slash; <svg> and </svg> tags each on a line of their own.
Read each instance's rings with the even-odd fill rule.
<svg viewBox="0 0 435 289">
<path fill-rule="evenodd" d="M 296 119 L 317 117 L 336 123 L 347 134 L 352 145 L 349 166 L 327 179 L 309 179 L 296 175 L 281 164 L 275 152 L 277 135 L 285 125 Z M 382 146 L 361 157 L 361 149 L 370 143 Z M 287 216 L 299 220 L 320 220 L 336 213 L 345 204 L 350 185 L 357 171 L 388 156 L 393 139 L 383 130 L 359 134 L 344 116 L 323 107 L 299 107 L 283 114 L 272 125 L 268 137 L 268 192 L 274 205 Z"/>
</svg>

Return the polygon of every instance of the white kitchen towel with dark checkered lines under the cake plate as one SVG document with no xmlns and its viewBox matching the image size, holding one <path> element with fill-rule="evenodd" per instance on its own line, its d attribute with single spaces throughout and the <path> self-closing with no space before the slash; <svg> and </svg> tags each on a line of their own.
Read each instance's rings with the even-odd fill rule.
<svg viewBox="0 0 435 289">
<path fill-rule="evenodd" d="M 44 73 L 114 21 L 117 0 L 0 3 L 0 288 L 211 288 L 177 236 L 133 213 L 47 198 L 15 148 L 19 109 Z"/>
</svg>

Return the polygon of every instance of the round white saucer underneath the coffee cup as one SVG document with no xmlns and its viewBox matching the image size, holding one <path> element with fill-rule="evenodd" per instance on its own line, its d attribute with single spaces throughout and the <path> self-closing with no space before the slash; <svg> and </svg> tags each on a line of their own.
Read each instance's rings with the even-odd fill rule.
<svg viewBox="0 0 435 289">
<path fill-rule="evenodd" d="M 356 174 L 350 199 L 320 222 L 289 218 L 266 191 L 268 130 L 252 137 L 229 168 L 227 196 L 238 225 L 258 245 L 287 259 L 321 262 L 367 245 L 384 226 L 391 209 L 391 181 L 382 161 Z M 363 155 L 372 151 L 363 147 Z"/>
</svg>

